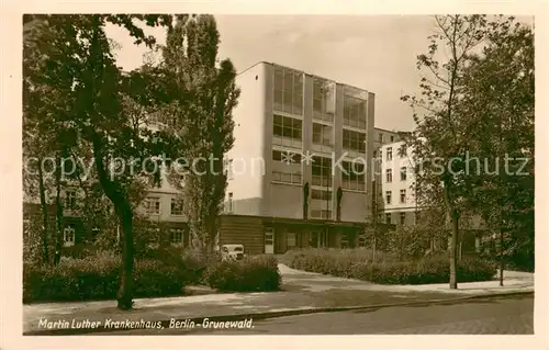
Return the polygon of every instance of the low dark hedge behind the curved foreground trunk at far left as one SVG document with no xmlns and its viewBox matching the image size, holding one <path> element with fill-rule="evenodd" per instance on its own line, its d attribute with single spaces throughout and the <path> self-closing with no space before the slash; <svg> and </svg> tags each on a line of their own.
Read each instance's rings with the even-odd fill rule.
<svg viewBox="0 0 549 350">
<path fill-rule="evenodd" d="M 58 266 L 23 264 L 23 302 L 86 301 L 116 297 L 121 260 L 109 252 L 85 259 L 63 258 Z M 181 294 L 188 283 L 184 270 L 159 260 L 135 262 L 134 295 Z"/>
</svg>

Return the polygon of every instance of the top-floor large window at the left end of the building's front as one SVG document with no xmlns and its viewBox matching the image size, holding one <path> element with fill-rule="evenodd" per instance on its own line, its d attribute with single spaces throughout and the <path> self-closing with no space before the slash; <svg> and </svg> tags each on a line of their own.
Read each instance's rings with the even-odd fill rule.
<svg viewBox="0 0 549 350">
<path fill-rule="evenodd" d="M 274 66 L 274 110 L 303 114 L 303 74 Z"/>
</svg>

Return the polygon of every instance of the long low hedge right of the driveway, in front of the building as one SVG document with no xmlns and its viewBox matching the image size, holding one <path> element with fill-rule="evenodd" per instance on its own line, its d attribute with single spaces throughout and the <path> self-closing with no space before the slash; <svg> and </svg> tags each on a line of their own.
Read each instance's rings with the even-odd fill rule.
<svg viewBox="0 0 549 350">
<path fill-rule="evenodd" d="M 380 284 L 429 284 L 449 282 L 450 261 L 447 256 L 434 256 L 414 261 L 372 263 L 352 251 L 336 256 L 310 249 L 295 255 L 291 268 Z M 458 261 L 459 282 L 492 280 L 495 273 L 495 266 L 480 258 Z"/>
</svg>

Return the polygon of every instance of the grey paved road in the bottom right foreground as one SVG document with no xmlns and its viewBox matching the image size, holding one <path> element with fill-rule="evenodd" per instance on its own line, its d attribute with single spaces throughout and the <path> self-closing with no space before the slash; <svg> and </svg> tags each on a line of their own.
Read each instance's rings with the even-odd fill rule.
<svg viewBox="0 0 549 350">
<path fill-rule="evenodd" d="M 448 305 L 386 307 L 288 316 L 251 329 L 127 330 L 110 335 L 502 335 L 534 334 L 534 297 L 472 300 Z"/>
</svg>

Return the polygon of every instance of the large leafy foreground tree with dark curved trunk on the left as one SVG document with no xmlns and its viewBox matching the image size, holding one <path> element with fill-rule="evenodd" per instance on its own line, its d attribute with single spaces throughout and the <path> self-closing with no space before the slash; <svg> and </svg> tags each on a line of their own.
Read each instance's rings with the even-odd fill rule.
<svg viewBox="0 0 549 350">
<path fill-rule="evenodd" d="M 29 37 L 32 55 L 25 66 L 26 91 L 38 91 L 40 99 L 27 100 L 38 104 L 41 114 L 51 116 L 56 125 L 64 125 L 63 142 L 68 148 L 89 145 L 101 189 L 111 201 L 123 236 L 123 268 L 117 306 L 132 307 L 133 273 L 133 207 L 128 192 L 143 163 L 135 159 L 150 158 L 156 153 L 157 137 L 144 127 L 146 109 L 144 93 L 135 89 L 135 75 L 124 75 L 116 67 L 112 46 L 104 32 L 105 23 L 125 27 L 136 44 L 152 46 L 154 37 L 146 36 L 136 21 L 147 25 L 170 25 L 169 15 L 33 15 L 44 25 Z M 144 80 L 143 75 L 138 77 Z M 26 94 L 25 94 L 26 97 Z M 44 100 L 37 102 L 36 100 Z M 25 102 L 26 103 L 26 102 Z M 123 161 L 113 161 L 122 159 Z M 131 167 L 132 171 L 127 167 Z"/>
</svg>

